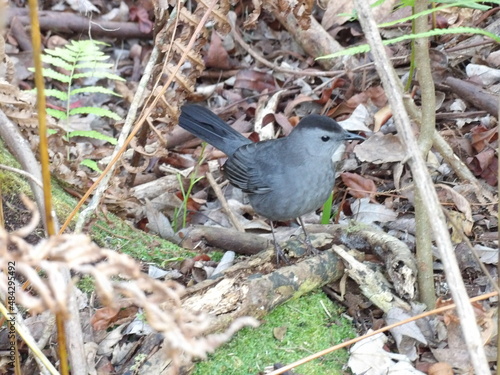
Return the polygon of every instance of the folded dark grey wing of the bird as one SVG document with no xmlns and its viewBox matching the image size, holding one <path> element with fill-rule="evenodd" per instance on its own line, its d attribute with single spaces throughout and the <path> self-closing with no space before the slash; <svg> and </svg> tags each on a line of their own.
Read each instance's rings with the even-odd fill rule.
<svg viewBox="0 0 500 375">
<path fill-rule="evenodd" d="M 269 176 L 262 173 L 262 161 L 257 155 L 262 150 L 257 145 L 251 143 L 238 148 L 224 164 L 224 174 L 232 185 L 245 193 L 265 194 L 271 191 L 271 187 L 267 183 Z"/>
</svg>

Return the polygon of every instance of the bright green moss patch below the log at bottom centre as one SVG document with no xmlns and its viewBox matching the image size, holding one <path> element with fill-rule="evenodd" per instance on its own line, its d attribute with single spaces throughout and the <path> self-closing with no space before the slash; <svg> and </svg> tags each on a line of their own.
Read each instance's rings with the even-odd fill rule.
<svg viewBox="0 0 500 375">
<path fill-rule="evenodd" d="M 286 365 L 339 344 L 355 336 L 349 320 L 340 316 L 341 311 L 321 292 L 289 301 L 269 314 L 259 328 L 243 329 L 207 361 L 198 363 L 194 375 L 256 374 L 275 363 Z M 273 335 L 279 327 L 286 327 L 281 341 Z M 342 374 L 347 358 L 346 350 L 338 350 L 296 371 L 308 375 Z"/>
</svg>

